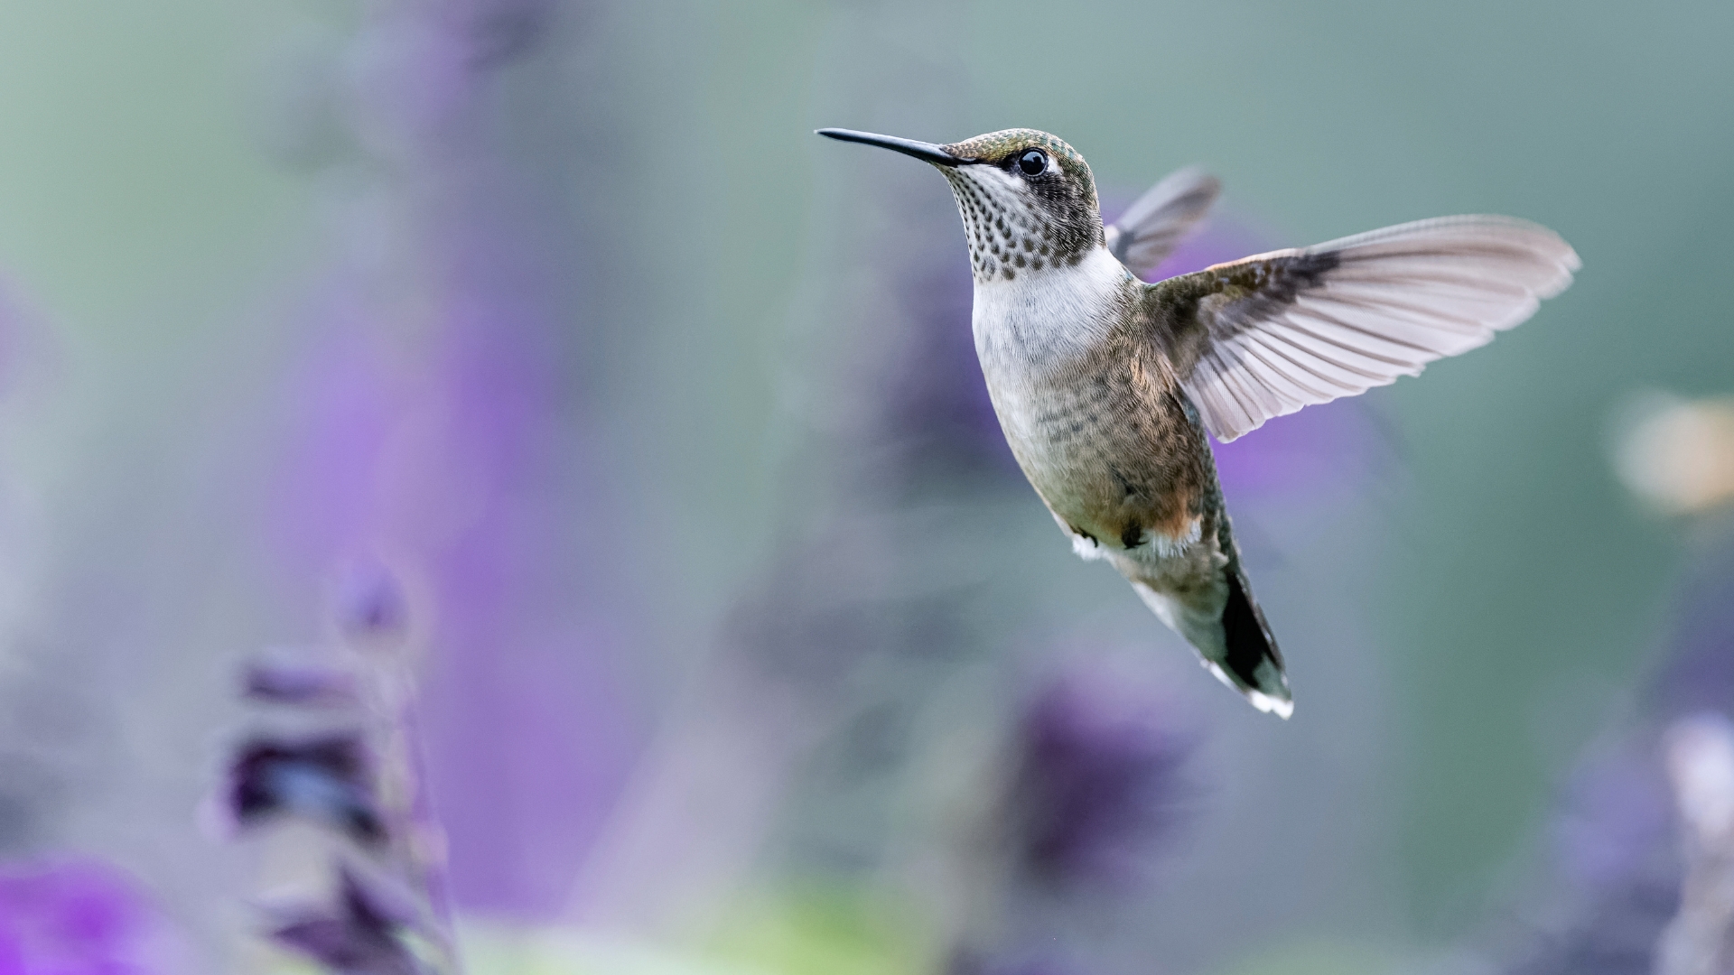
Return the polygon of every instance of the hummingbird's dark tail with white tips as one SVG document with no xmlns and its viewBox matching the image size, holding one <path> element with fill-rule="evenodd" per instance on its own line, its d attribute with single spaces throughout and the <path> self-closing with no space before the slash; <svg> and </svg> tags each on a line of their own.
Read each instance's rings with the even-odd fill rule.
<svg viewBox="0 0 1734 975">
<path fill-rule="evenodd" d="M 1240 690 L 1254 708 L 1287 718 L 1295 704 L 1283 673 L 1283 654 L 1276 649 L 1264 612 L 1252 600 L 1238 559 L 1222 569 L 1222 583 L 1226 600 L 1216 586 L 1210 586 L 1214 592 L 1209 597 L 1190 593 L 1193 599 L 1158 592 L 1136 578 L 1132 588 L 1169 628 L 1186 637 L 1198 651 L 1200 663 L 1217 680 Z"/>
</svg>

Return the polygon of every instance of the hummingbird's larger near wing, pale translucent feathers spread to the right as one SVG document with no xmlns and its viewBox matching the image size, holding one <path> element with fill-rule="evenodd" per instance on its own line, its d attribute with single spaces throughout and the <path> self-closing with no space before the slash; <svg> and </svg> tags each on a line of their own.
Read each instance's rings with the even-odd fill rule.
<svg viewBox="0 0 1734 975">
<path fill-rule="evenodd" d="M 1169 278 L 1146 309 L 1219 441 L 1484 345 L 1571 285 L 1578 255 L 1510 217 L 1439 217 Z"/>
</svg>

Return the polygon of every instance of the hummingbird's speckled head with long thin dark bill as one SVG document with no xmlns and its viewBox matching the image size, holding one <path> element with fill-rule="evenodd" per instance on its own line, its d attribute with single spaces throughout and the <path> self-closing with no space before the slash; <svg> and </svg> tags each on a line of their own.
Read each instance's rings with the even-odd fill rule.
<svg viewBox="0 0 1734 975">
<path fill-rule="evenodd" d="M 1072 267 L 1105 246 L 1089 163 L 1056 135 L 1007 128 L 935 146 L 848 128 L 818 134 L 933 163 L 952 184 L 978 283 Z"/>
</svg>

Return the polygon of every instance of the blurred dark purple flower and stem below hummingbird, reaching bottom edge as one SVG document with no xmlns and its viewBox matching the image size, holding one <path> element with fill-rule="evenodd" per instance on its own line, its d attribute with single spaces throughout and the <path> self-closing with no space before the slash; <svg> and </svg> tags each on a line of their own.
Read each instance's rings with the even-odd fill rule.
<svg viewBox="0 0 1734 975">
<path fill-rule="evenodd" d="M 1096 970 L 1190 817 L 1196 730 L 1157 687 L 1099 659 L 1047 673 L 1013 715 L 1002 786 L 971 831 L 973 918 L 952 975 Z"/>
</svg>

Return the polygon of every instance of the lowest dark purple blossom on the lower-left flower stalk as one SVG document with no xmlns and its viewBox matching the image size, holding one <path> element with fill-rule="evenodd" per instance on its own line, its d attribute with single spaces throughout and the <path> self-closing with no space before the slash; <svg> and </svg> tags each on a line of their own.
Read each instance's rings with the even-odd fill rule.
<svg viewBox="0 0 1734 975">
<path fill-rule="evenodd" d="M 335 911 L 283 925 L 271 937 L 342 975 L 418 975 L 427 968 L 401 937 L 407 926 L 402 911 L 345 867 Z"/>
</svg>

